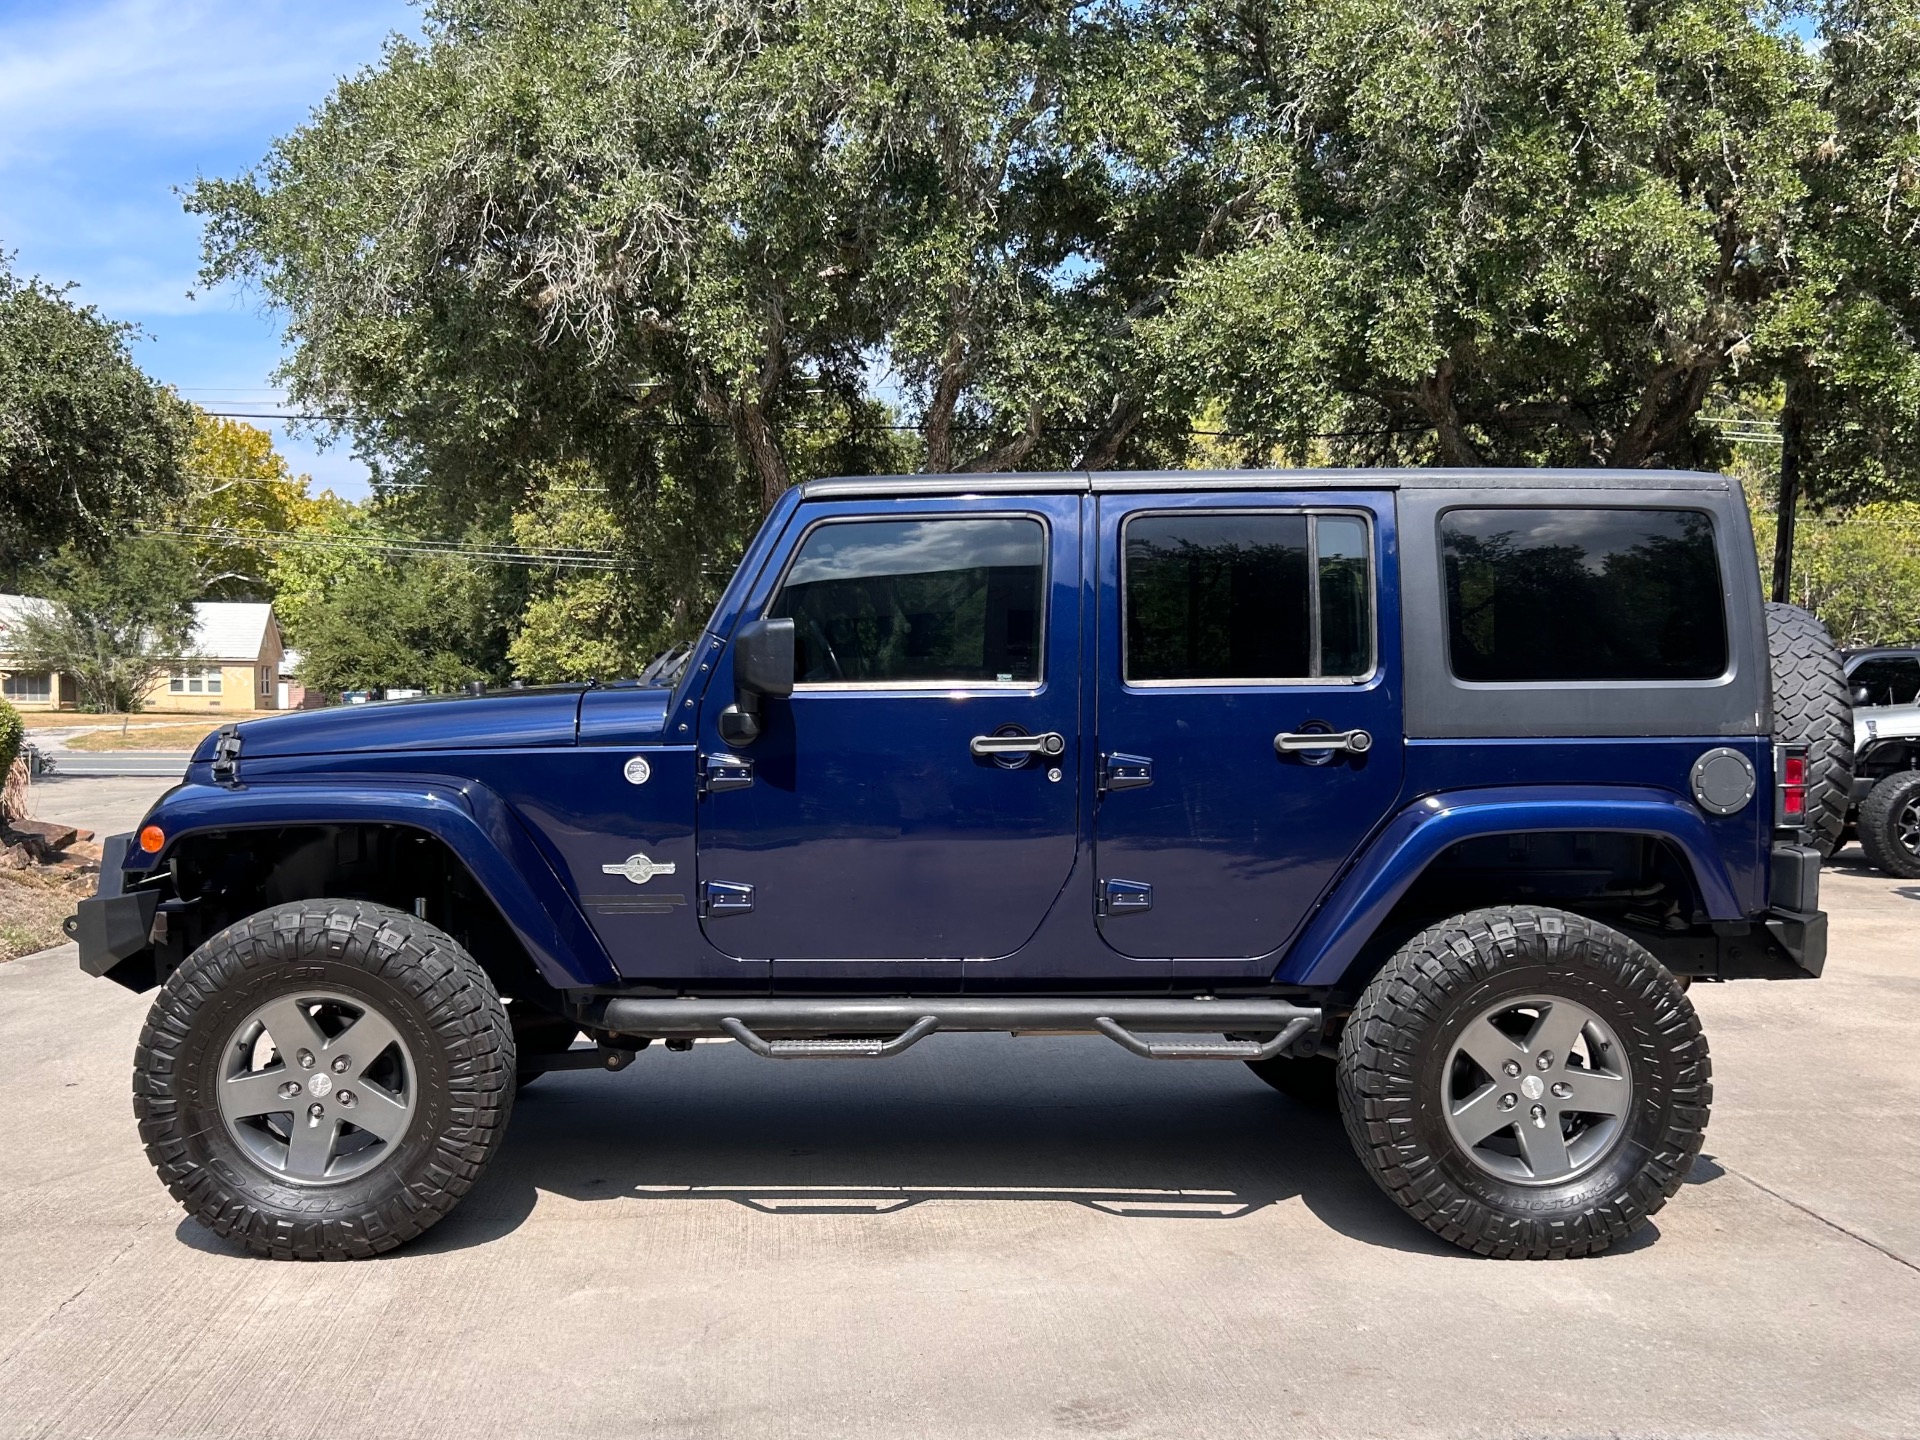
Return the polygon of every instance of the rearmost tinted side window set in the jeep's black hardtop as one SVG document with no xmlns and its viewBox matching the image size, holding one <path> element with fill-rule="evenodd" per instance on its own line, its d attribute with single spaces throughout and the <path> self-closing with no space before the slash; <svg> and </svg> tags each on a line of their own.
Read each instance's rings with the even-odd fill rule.
<svg viewBox="0 0 1920 1440">
<path fill-rule="evenodd" d="M 1697 511 L 1450 511 L 1440 549 L 1461 680 L 1726 672 L 1720 563 Z"/>
</svg>

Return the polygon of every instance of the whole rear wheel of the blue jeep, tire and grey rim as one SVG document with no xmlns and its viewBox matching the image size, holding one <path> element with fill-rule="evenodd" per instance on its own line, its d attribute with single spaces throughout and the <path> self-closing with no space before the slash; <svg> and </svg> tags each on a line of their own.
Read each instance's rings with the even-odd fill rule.
<svg viewBox="0 0 1920 1440">
<path fill-rule="evenodd" d="M 1340 1037 L 1361 1164 L 1482 1256 L 1584 1256 L 1680 1188 L 1713 1102 L 1699 1018 L 1619 931 L 1563 910 L 1473 910 L 1407 941 Z"/>
</svg>

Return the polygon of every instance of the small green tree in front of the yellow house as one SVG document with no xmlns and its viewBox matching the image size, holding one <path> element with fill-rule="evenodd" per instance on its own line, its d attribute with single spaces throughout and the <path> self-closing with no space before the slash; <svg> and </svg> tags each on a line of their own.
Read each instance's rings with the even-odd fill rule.
<svg viewBox="0 0 1920 1440">
<path fill-rule="evenodd" d="M 42 572 L 46 603 L 8 634 L 21 670 L 73 678 L 83 710 L 138 710 L 190 653 L 200 586 L 171 540 L 134 536 L 104 551 L 63 549 Z"/>
</svg>

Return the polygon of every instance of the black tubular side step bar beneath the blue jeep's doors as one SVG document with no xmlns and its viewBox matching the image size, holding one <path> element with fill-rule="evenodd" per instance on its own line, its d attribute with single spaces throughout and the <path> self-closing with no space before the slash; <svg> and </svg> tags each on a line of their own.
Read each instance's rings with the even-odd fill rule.
<svg viewBox="0 0 1920 1440">
<path fill-rule="evenodd" d="M 724 1035 L 766 1060 L 885 1060 L 935 1031 L 1089 1033 L 1148 1060 L 1273 1060 L 1319 1050 L 1317 1008 L 1286 1000 L 1175 1000 L 954 995 L 922 1000 L 641 998 L 589 1000 L 580 1020 L 641 1041 Z M 1265 1039 L 1144 1041 L 1140 1031 Z M 772 1039 L 778 1037 L 778 1039 Z"/>
</svg>

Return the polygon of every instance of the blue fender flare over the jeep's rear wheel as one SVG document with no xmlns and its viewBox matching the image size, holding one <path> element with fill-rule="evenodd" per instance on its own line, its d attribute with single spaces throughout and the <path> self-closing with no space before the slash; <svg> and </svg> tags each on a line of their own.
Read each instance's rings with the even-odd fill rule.
<svg viewBox="0 0 1920 1440">
<path fill-rule="evenodd" d="M 1521 831 L 1601 829 L 1659 835 L 1693 870 L 1713 920 L 1741 920 L 1705 818 L 1672 791 L 1640 785 L 1513 785 L 1427 795 L 1396 814 L 1288 948 L 1281 985 L 1338 985 L 1361 947 L 1442 851 Z"/>
</svg>

